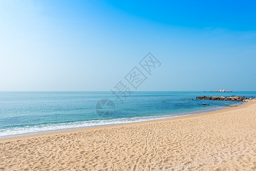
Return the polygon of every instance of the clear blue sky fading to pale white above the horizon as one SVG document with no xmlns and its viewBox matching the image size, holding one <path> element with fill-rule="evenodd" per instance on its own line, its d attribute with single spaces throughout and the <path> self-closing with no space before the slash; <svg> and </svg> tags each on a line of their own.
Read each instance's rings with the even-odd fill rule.
<svg viewBox="0 0 256 171">
<path fill-rule="evenodd" d="M 0 0 L 0 91 L 256 91 L 255 1 Z"/>
</svg>

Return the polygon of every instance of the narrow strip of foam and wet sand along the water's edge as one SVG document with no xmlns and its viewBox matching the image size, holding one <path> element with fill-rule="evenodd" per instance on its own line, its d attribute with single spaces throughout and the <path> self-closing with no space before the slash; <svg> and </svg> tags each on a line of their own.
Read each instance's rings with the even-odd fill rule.
<svg viewBox="0 0 256 171">
<path fill-rule="evenodd" d="M 87 127 L 87 128 L 78 127 L 78 128 L 55 129 L 55 130 L 50 130 L 50 131 L 31 132 L 31 133 L 23 133 L 23 134 L 19 134 L 19 135 L 2 136 L 2 137 L 0 137 L 0 143 L 5 143 L 7 141 L 32 139 L 32 138 L 36 138 L 36 137 L 54 136 L 54 135 L 60 135 L 60 134 L 64 134 L 64 133 L 74 133 L 74 132 L 81 132 L 81 131 L 110 129 L 110 128 L 118 128 L 118 127 L 129 127 L 129 126 L 133 126 L 133 125 L 160 123 L 162 121 L 166 122 L 166 121 L 179 120 L 179 119 L 182 120 L 182 119 L 187 119 L 187 118 L 191 118 L 191 117 L 213 115 L 218 112 L 222 112 L 225 109 L 227 109 L 227 111 L 229 111 L 229 109 L 243 107 L 244 105 L 249 104 L 249 103 L 250 103 L 250 101 L 244 101 L 242 104 L 239 103 L 241 105 L 238 105 L 237 107 L 224 107 L 223 106 L 222 108 L 219 108 L 219 109 L 206 109 L 205 110 L 206 112 L 205 111 L 201 111 L 200 113 L 192 112 L 192 113 L 189 113 L 188 115 L 182 115 L 185 113 L 180 113 L 181 115 L 177 114 L 178 116 L 168 117 L 165 119 L 153 119 L 153 120 L 148 120 L 148 121 L 137 121 L 137 122 L 132 122 L 132 123 L 124 123 L 124 124 L 107 124 L 107 125 L 98 125 L 98 126 L 95 125 L 95 126 L 91 126 L 91 127 Z M 165 115 L 162 115 L 162 116 L 165 116 Z"/>
</svg>

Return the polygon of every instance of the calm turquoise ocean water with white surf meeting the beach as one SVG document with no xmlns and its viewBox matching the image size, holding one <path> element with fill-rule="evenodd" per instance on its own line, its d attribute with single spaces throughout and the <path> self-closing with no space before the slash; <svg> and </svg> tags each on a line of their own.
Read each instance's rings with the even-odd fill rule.
<svg viewBox="0 0 256 171">
<path fill-rule="evenodd" d="M 133 92 L 123 103 L 112 92 L 0 92 L 0 138 L 165 119 L 242 104 L 188 100 L 202 95 L 255 97 L 256 92 L 144 91 Z M 96 104 L 101 99 L 110 99 L 115 104 L 111 115 L 96 112 Z"/>
</svg>

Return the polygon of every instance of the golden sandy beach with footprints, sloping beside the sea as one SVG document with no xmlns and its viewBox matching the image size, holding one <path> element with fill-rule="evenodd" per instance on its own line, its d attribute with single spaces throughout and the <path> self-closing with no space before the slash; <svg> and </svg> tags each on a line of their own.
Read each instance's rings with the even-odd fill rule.
<svg viewBox="0 0 256 171">
<path fill-rule="evenodd" d="M 0 140 L 0 170 L 256 170 L 256 101 L 143 123 Z"/>
</svg>

